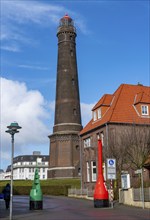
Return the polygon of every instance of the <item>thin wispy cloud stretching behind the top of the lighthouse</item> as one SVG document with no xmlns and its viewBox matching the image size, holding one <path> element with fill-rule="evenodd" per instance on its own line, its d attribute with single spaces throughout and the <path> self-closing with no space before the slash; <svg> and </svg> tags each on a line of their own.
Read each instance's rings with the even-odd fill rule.
<svg viewBox="0 0 150 220">
<path fill-rule="evenodd" d="M 27 25 L 56 26 L 66 11 L 74 16 L 79 29 L 84 34 L 87 33 L 84 19 L 60 4 L 13 0 L 2 1 L 1 8 L 1 40 L 5 43 L 5 47 L 1 49 L 7 49 L 6 42 L 9 42 L 9 45 L 12 43 L 33 45 L 35 39 L 33 41 L 26 31 Z M 12 50 L 12 52 L 16 51 Z"/>
</svg>

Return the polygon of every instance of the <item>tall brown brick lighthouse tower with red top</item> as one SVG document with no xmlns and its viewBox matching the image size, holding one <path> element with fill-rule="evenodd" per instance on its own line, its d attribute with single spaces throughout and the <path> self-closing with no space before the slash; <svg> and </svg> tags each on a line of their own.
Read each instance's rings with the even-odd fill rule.
<svg viewBox="0 0 150 220">
<path fill-rule="evenodd" d="M 50 138 L 48 178 L 78 177 L 80 147 L 78 133 L 82 129 L 78 72 L 76 60 L 76 29 L 65 15 L 57 31 L 58 63 L 55 122 Z"/>
</svg>

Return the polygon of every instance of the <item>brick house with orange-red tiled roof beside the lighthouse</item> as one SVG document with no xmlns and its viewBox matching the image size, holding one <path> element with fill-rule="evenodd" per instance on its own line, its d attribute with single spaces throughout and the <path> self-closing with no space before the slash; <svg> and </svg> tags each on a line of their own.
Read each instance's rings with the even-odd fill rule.
<svg viewBox="0 0 150 220">
<path fill-rule="evenodd" d="M 121 173 L 134 174 L 150 154 L 150 87 L 121 84 L 114 94 L 105 94 L 92 109 L 92 119 L 80 132 L 82 187 L 93 190 L 97 179 L 98 139 L 106 159 L 116 159 L 117 184 Z M 150 178 L 149 170 L 146 176 Z"/>
</svg>

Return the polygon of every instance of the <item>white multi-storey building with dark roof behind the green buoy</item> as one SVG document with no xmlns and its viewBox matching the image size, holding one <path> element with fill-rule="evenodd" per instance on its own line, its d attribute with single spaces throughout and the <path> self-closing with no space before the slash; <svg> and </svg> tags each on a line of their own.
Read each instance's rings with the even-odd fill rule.
<svg viewBox="0 0 150 220">
<path fill-rule="evenodd" d="M 39 151 L 34 151 L 33 155 L 21 155 L 13 159 L 13 179 L 14 180 L 33 180 L 35 168 L 39 168 L 39 178 L 47 179 L 49 166 L 49 155 L 41 155 Z M 6 172 L 0 174 L 0 180 L 10 180 L 11 166 L 7 167 Z"/>
</svg>

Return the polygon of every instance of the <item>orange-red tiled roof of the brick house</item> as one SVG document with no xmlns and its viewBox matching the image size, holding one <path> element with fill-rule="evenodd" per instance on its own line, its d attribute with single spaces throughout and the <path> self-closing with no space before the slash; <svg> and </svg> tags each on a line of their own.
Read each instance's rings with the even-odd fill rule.
<svg viewBox="0 0 150 220">
<path fill-rule="evenodd" d="M 104 116 L 97 120 L 93 119 L 83 128 L 80 135 L 87 133 L 106 123 L 135 123 L 150 124 L 150 117 L 141 117 L 137 111 L 135 97 L 138 102 L 150 103 L 150 87 L 141 85 L 121 84 L 113 95 L 104 95 L 93 107 L 92 111 L 102 105 L 109 106 Z M 150 106 L 149 106 L 150 109 Z"/>
</svg>

